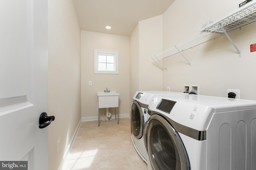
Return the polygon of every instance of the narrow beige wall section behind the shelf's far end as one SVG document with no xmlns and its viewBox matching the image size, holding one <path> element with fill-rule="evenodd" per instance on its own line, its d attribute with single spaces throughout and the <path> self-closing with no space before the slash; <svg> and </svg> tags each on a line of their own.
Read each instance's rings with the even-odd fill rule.
<svg viewBox="0 0 256 170">
<path fill-rule="evenodd" d="M 162 15 L 139 21 L 139 90 L 162 90 L 162 70 L 153 55 L 162 52 Z"/>
</svg>

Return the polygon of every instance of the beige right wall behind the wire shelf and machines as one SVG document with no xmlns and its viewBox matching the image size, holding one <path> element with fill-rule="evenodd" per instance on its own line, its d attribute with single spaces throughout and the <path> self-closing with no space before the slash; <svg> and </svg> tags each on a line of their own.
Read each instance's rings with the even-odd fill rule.
<svg viewBox="0 0 256 170">
<path fill-rule="evenodd" d="M 163 49 L 200 33 L 206 21 L 226 16 L 238 9 L 240 2 L 175 1 L 163 14 Z M 229 34 L 242 52 L 241 58 L 225 35 L 184 51 L 191 67 L 180 54 L 168 57 L 164 60 L 168 71 L 163 74 L 163 89 L 170 86 L 172 91 L 183 92 L 184 84 L 199 84 L 202 95 L 227 97 L 227 89 L 240 89 L 242 99 L 256 100 L 256 52 L 250 53 L 250 44 L 256 43 L 255 30 L 254 23 Z"/>
</svg>

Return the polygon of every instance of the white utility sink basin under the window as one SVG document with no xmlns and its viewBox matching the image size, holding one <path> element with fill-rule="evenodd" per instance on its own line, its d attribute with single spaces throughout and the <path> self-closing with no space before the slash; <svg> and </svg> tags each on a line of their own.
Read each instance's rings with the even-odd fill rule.
<svg viewBox="0 0 256 170">
<path fill-rule="evenodd" d="M 100 108 L 118 107 L 119 93 L 117 92 L 98 92 L 98 105 Z"/>
</svg>

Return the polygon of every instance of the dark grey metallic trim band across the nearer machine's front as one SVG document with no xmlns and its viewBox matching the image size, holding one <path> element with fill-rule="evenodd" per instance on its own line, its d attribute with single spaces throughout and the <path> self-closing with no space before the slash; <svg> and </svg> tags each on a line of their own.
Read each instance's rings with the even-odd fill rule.
<svg viewBox="0 0 256 170">
<path fill-rule="evenodd" d="M 164 115 L 158 111 L 152 111 L 152 110 L 148 109 L 148 114 L 149 115 L 153 115 L 153 114 L 161 115 L 162 117 L 164 117 L 164 119 L 166 119 L 174 127 L 174 129 L 176 129 L 176 131 L 178 131 L 179 133 L 182 133 L 183 135 L 186 135 L 186 136 L 196 139 L 198 141 L 206 140 L 206 131 L 198 131 L 191 127 L 187 127 L 185 125 L 177 123 L 176 121 L 173 121 L 172 119 L 170 119 L 170 117 L 167 117 L 166 115 Z"/>
</svg>

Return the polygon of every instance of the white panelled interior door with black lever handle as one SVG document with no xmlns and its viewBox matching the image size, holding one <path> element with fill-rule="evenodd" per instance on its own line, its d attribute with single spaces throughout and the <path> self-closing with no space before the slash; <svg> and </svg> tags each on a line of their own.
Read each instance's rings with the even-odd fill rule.
<svg viewBox="0 0 256 170">
<path fill-rule="evenodd" d="M 47 29 L 47 0 L 0 0 L 0 161 L 29 170 L 48 169 Z"/>
</svg>

